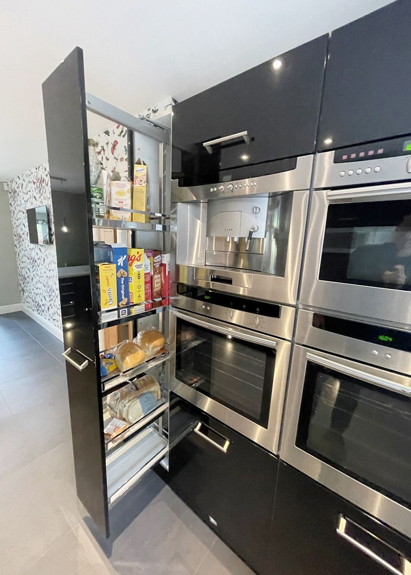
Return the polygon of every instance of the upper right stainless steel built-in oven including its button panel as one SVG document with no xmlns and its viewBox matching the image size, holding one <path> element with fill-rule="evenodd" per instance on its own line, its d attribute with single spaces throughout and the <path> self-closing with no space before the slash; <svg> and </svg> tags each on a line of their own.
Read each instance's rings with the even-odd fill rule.
<svg viewBox="0 0 411 575">
<path fill-rule="evenodd" d="M 411 136 L 318 155 L 302 305 L 411 323 L 410 178 Z"/>
</svg>

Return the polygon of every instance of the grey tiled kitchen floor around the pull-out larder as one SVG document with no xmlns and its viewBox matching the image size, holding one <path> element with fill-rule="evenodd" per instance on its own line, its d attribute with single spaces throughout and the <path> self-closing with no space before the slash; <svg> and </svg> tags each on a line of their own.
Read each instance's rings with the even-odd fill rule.
<svg viewBox="0 0 411 575">
<path fill-rule="evenodd" d="M 24 313 L 0 316 L 0 574 L 252 575 L 152 472 L 99 538 L 76 498 L 62 351 Z"/>
</svg>

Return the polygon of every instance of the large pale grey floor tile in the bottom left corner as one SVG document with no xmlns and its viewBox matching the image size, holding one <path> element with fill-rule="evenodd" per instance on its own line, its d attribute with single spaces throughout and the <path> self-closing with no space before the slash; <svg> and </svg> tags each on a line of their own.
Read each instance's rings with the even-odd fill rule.
<svg viewBox="0 0 411 575">
<path fill-rule="evenodd" d="M 36 461 L 0 480 L 1 572 L 19 575 L 70 524 Z"/>
</svg>

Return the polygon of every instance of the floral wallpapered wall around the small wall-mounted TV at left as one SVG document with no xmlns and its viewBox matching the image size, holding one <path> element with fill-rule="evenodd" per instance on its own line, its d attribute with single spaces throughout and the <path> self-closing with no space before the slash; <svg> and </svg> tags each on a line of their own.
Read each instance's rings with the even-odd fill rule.
<svg viewBox="0 0 411 575">
<path fill-rule="evenodd" d="M 30 244 L 26 217 L 26 209 L 46 205 L 53 229 L 48 162 L 11 180 L 9 201 L 21 302 L 61 329 L 56 246 Z"/>
</svg>

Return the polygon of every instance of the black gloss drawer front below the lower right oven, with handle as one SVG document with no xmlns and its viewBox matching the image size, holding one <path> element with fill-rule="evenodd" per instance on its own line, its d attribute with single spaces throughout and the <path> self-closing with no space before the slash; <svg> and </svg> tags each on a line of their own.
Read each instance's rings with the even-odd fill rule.
<svg viewBox="0 0 411 575">
<path fill-rule="evenodd" d="M 401 575 L 411 542 L 301 471 L 279 463 L 271 573 Z"/>
</svg>

